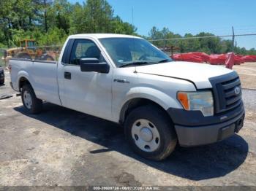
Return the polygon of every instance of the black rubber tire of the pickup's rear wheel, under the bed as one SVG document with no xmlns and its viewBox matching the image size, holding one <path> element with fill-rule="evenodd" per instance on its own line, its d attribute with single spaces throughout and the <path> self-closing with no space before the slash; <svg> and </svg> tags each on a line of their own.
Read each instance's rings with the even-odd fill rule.
<svg viewBox="0 0 256 191">
<path fill-rule="evenodd" d="M 28 106 L 25 102 L 25 96 L 29 94 L 31 96 L 31 106 Z M 23 85 L 21 90 L 21 99 L 23 106 L 29 111 L 31 114 L 38 114 L 42 111 L 42 100 L 38 99 L 34 93 L 31 85 Z"/>
</svg>

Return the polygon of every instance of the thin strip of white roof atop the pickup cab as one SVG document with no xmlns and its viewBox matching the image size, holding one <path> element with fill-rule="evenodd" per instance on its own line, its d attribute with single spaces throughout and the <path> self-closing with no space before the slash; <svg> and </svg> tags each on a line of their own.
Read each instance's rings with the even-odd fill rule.
<svg viewBox="0 0 256 191">
<path fill-rule="evenodd" d="M 97 39 L 102 39 L 102 38 L 138 38 L 141 39 L 138 36 L 132 36 L 132 35 L 126 35 L 126 34 L 75 34 L 69 36 L 69 38 L 84 38 L 84 37 L 92 37 L 92 38 L 97 38 Z"/>
</svg>

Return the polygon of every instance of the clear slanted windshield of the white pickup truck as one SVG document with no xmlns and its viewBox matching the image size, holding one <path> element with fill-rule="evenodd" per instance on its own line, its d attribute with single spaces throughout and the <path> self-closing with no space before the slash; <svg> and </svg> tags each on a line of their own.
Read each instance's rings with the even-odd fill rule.
<svg viewBox="0 0 256 191">
<path fill-rule="evenodd" d="M 138 66 L 172 61 L 168 55 L 144 39 L 99 39 L 117 67 Z"/>
</svg>

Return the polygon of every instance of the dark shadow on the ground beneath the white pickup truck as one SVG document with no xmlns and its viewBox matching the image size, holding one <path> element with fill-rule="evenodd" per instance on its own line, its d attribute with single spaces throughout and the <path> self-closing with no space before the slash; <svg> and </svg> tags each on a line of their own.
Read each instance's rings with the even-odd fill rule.
<svg viewBox="0 0 256 191">
<path fill-rule="evenodd" d="M 91 150 L 91 155 L 116 151 L 152 168 L 191 180 L 225 176 L 244 163 L 248 153 L 246 141 L 235 135 L 225 141 L 202 147 L 177 147 L 166 160 L 154 162 L 135 155 L 124 139 L 123 129 L 113 122 L 48 103 L 44 104 L 44 111 L 39 115 L 27 113 L 23 106 L 16 107 L 15 110 L 102 146 L 102 149 Z"/>
</svg>

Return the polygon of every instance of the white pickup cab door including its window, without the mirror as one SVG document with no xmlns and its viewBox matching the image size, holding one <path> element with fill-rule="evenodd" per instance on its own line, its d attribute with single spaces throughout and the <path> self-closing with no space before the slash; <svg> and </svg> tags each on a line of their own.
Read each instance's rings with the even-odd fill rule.
<svg viewBox="0 0 256 191">
<path fill-rule="evenodd" d="M 65 59 L 59 64 L 59 90 L 62 105 L 111 120 L 112 68 L 108 74 L 80 71 L 80 58 L 98 58 L 105 62 L 101 50 L 91 39 L 72 39 L 64 50 Z M 69 58 L 67 58 L 67 52 Z"/>
</svg>

